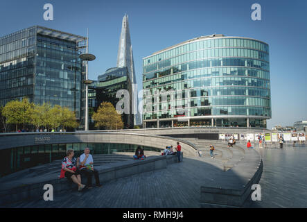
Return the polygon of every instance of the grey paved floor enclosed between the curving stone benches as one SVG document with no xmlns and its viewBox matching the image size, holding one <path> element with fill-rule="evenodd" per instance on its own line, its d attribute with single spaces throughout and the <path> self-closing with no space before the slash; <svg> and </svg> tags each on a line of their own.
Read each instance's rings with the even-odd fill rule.
<svg viewBox="0 0 307 222">
<path fill-rule="evenodd" d="M 212 164 L 213 163 L 213 164 Z M 53 201 L 22 201 L 6 207 L 200 207 L 200 186 L 222 170 L 214 159 L 184 157 L 167 169 L 107 182 L 103 187 L 54 194 Z M 223 172 L 222 172 L 223 173 Z"/>
</svg>

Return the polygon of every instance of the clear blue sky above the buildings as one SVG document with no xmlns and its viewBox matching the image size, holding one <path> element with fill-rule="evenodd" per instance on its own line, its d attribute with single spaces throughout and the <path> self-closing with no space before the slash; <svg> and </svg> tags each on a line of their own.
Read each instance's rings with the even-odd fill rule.
<svg viewBox="0 0 307 222">
<path fill-rule="evenodd" d="M 43 18 L 52 3 L 54 20 Z M 261 21 L 252 21 L 251 6 L 261 4 Z M 292 126 L 307 119 L 307 1 L 306 0 L 1 0 L 0 36 L 33 25 L 86 36 L 96 60 L 89 78 L 116 67 L 121 21 L 129 16 L 138 88 L 142 58 L 155 51 L 213 33 L 252 37 L 270 45 L 272 119 Z"/>
</svg>

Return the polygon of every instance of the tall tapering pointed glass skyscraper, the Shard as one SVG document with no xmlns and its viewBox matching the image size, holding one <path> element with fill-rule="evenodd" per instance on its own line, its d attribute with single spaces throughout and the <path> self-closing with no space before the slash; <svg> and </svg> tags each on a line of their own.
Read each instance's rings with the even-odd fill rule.
<svg viewBox="0 0 307 222">
<path fill-rule="evenodd" d="M 137 99 L 137 78 L 135 77 L 134 72 L 134 62 L 133 62 L 133 53 L 132 45 L 130 39 L 128 15 L 123 17 L 123 23 L 121 26 L 121 37 L 119 39 L 119 52 L 117 54 L 117 63 L 116 67 L 128 67 L 130 82 L 132 84 L 132 96 L 134 103 L 132 103 L 132 110 L 137 110 L 138 99 Z M 141 122 L 139 119 L 139 113 L 134 114 L 134 125 L 138 125 Z"/>
</svg>

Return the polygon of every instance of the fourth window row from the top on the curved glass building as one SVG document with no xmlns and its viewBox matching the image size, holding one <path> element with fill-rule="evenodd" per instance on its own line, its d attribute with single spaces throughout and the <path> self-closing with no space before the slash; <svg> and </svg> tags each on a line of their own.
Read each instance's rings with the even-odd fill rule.
<svg viewBox="0 0 307 222">
<path fill-rule="evenodd" d="M 159 77 L 160 78 L 157 78 Z M 243 67 L 225 67 L 225 68 L 205 68 L 205 69 L 194 69 L 190 71 L 184 71 L 179 74 L 168 75 L 161 78 L 159 72 L 151 72 L 143 75 L 143 81 L 155 78 L 148 83 L 154 83 L 152 86 L 157 85 L 156 83 L 165 83 L 171 80 L 172 83 L 179 80 L 186 80 L 191 78 L 201 78 L 204 76 L 252 76 L 257 78 L 265 78 L 270 80 L 270 72 L 261 69 L 249 69 Z M 148 84 L 146 83 L 146 85 Z"/>
</svg>

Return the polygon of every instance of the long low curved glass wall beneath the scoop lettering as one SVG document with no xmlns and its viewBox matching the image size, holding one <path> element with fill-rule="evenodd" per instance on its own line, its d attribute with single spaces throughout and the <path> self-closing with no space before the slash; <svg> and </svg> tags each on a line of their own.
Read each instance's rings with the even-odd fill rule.
<svg viewBox="0 0 307 222">
<path fill-rule="evenodd" d="M 105 144 L 105 143 L 74 143 L 74 144 L 42 144 L 0 150 L 0 177 L 15 171 L 46 164 L 53 160 L 62 160 L 66 151 L 73 149 L 80 156 L 85 147 L 91 149 L 91 154 L 112 154 L 114 152 L 134 152 L 134 144 Z M 145 151 L 160 152 L 159 148 L 142 147 Z M 60 167 L 60 166 L 59 166 Z"/>
</svg>

